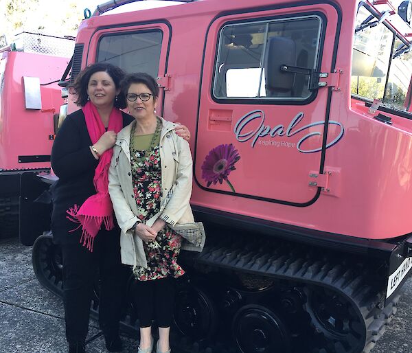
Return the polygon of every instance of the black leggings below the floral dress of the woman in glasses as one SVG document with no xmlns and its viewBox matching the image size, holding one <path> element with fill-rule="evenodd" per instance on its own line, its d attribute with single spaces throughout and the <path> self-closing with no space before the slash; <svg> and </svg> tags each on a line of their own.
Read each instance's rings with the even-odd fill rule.
<svg viewBox="0 0 412 353">
<path fill-rule="evenodd" d="M 165 277 L 160 280 L 136 282 L 139 326 L 141 328 L 152 326 L 152 320 L 156 319 L 159 328 L 170 327 L 176 293 L 176 280 L 172 277 Z"/>
</svg>

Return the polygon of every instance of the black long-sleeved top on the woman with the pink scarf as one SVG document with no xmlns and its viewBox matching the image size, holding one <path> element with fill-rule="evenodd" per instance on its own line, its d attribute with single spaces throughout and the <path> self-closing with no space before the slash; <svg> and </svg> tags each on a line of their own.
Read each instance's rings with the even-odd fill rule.
<svg viewBox="0 0 412 353">
<path fill-rule="evenodd" d="M 123 127 L 133 117 L 123 113 Z M 93 185 L 98 160 L 91 153 L 92 145 L 82 109 L 67 115 L 52 148 L 52 168 L 59 177 L 52 187 L 52 231 L 55 242 L 78 242 L 78 236 L 69 234 L 78 225 L 67 219 L 67 209 L 80 207 L 96 193 Z"/>
</svg>

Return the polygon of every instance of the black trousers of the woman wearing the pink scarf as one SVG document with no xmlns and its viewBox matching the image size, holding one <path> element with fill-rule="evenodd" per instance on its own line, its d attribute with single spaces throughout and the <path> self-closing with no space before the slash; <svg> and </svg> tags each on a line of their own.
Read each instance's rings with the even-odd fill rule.
<svg viewBox="0 0 412 353">
<path fill-rule="evenodd" d="M 99 287 L 100 329 L 105 334 L 117 334 L 119 330 L 126 282 L 125 268 L 120 261 L 119 237 L 117 227 L 111 231 L 100 230 L 94 241 L 93 252 L 80 243 L 60 244 L 66 337 L 69 344 L 84 343 L 89 328 L 93 291 Z"/>
</svg>

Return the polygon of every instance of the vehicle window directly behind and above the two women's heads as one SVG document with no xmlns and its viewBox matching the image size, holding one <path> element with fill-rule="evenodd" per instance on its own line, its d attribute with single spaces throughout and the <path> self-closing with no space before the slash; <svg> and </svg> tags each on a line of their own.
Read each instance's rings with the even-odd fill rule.
<svg viewBox="0 0 412 353">
<path fill-rule="evenodd" d="M 162 33 L 159 30 L 103 36 L 98 62 L 110 62 L 128 73 L 158 76 Z"/>
</svg>

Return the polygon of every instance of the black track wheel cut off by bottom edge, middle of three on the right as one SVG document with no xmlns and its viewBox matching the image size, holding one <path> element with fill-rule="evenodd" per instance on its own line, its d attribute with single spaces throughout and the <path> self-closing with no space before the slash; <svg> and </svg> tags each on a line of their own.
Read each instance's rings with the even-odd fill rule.
<svg viewBox="0 0 412 353">
<path fill-rule="evenodd" d="M 264 306 L 242 306 L 233 318 L 232 330 L 242 353 L 290 352 L 289 335 L 284 323 Z"/>
</svg>

